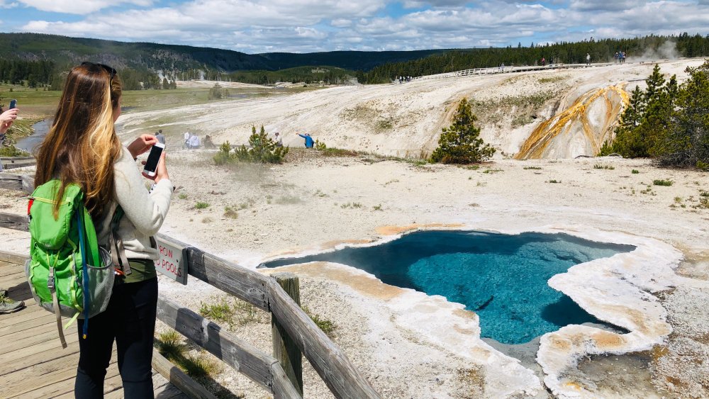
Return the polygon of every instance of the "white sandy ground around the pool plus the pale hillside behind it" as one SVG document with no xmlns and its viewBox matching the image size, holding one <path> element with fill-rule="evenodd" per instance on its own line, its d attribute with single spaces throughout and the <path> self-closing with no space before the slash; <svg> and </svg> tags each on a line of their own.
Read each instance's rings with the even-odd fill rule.
<svg viewBox="0 0 709 399">
<path fill-rule="evenodd" d="M 686 64 L 698 63 L 666 63 L 663 69 L 681 72 Z M 650 69 L 652 64 L 565 71 L 561 73 L 571 80 L 564 78 L 547 89 L 564 91 L 566 96 L 569 90 L 582 94 L 593 84 L 646 77 Z M 308 123 L 320 127 L 320 137 L 328 144 L 393 153 L 395 148 L 435 142 L 430 130 L 444 123 L 457 96 L 478 89 L 478 98 L 533 92 L 538 76 L 544 75 L 515 77 L 514 82 L 506 80 L 509 77 L 478 77 L 429 86 L 422 82 L 344 87 L 128 114 L 120 122 L 128 139 L 135 135 L 134 126 L 162 118 L 161 113 L 182 115 L 180 125 L 212 126 L 220 132 L 218 137 L 232 142 L 242 142 L 245 127 L 255 120 L 281 123 L 281 128 L 286 123 Z M 571 85 L 574 89 L 568 89 Z M 346 118 L 335 118 L 338 109 L 371 99 L 378 104 L 397 101 L 389 108 L 397 116 L 391 131 L 366 130 L 366 117 L 357 117 L 360 122 L 350 125 Z M 403 111 L 426 107 L 429 111 L 418 114 Z M 402 122 L 401 115 L 410 116 L 411 123 Z M 335 342 L 385 398 L 709 396 L 709 313 L 701 305 L 709 299 L 709 210 L 696 207 L 700 190 L 709 189 L 706 172 L 658 169 L 646 160 L 613 157 L 498 159 L 475 170 L 417 166 L 374 156 L 323 158 L 304 150 L 292 152 L 282 165 L 216 167 L 212 152 L 170 147 L 173 140 L 179 141 L 180 132 L 166 126 L 169 170 L 179 189 L 162 232 L 250 268 L 277 254 L 316 252 L 342 242 L 391 240 L 415 227 L 569 232 L 638 247 L 629 254 L 574 266 L 549 281 L 596 317 L 630 332 L 618 335 L 591 326 L 568 326 L 549 333 L 542 337 L 537 354 L 541 369 L 481 341 L 477 316 L 445 298 L 387 286 L 344 265 L 291 267 L 301 276 L 303 305 L 337 324 Z M 498 147 L 515 152 L 532 127 L 503 135 L 501 123 L 498 130 L 490 128 L 489 137 Z M 300 141 L 292 139 L 291 144 Z M 594 169 L 594 164 L 615 169 Z M 632 169 L 640 173 L 632 174 Z M 674 184 L 653 186 L 654 179 Z M 553 180 L 559 182 L 549 182 Z M 23 213 L 26 203 L 14 201 L 17 196 L 0 191 L 3 211 Z M 210 206 L 196 210 L 196 201 Z M 353 203 L 361 207 L 354 208 Z M 225 217 L 226 206 L 239 209 L 238 218 Z M 2 249 L 27 252 L 26 233 L 2 234 Z M 161 281 L 161 290 L 195 310 L 202 301 L 225 297 L 194 279 L 186 287 Z M 267 317 L 255 318 L 229 328 L 269 352 Z M 647 367 L 630 372 L 628 365 L 638 364 L 631 361 L 635 358 L 626 355 L 613 361 L 596 356 L 648 350 L 642 352 L 649 359 Z M 633 378 L 614 379 L 625 373 Z M 268 396 L 226 369 L 216 380 L 248 398 Z M 306 398 L 331 397 L 309 367 L 305 390 Z"/>
</svg>

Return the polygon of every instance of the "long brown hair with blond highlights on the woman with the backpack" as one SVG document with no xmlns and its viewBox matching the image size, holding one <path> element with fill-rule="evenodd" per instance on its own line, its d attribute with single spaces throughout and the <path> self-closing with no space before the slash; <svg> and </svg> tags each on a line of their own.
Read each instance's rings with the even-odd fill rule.
<svg viewBox="0 0 709 399">
<path fill-rule="evenodd" d="M 35 187 L 61 181 L 55 215 L 70 183 L 81 186 L 84 206 L 94 218 L 113 199 L 113 163 L 121 154 L 113 113 L 120 99 L 121 81 L 106 67 L 84 63 L 69 72 L 35 174 Z"/>
</svg>

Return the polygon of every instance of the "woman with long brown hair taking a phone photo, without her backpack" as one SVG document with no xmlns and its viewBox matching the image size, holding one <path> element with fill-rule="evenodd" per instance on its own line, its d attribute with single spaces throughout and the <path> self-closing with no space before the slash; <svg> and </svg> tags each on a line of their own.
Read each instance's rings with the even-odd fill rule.
<svg viewBox="0 0 709 399">
<path fill-rule="evenodd" d="M 135 158 L 157 142 L 142 135 L 128 147 L 116 136 L 113 123 L 121 115 L 121 81 L 116 70 L 84 62 L 67 76 L 57 113 L 38 152 L 35 186 L 60 179 L 64 187 L 79 184 L 84 204 L 96 225 L 99 244 L 108 245 L 116 206 L 125 215 L 118 223 L 131 273 L 116 278 L 108 308 L 91 317 L 82 339 L 79 320 L 77 398 L 102 398 L 104 377 L 116 340 L 118 369 L 125 398 L 153 398 L 152 343 L 157 308 L 155 235 L 172 198 L 164 152 L 150 193 Z M 146 176 L 147 177 L 147 176 Z"/>
</svg>

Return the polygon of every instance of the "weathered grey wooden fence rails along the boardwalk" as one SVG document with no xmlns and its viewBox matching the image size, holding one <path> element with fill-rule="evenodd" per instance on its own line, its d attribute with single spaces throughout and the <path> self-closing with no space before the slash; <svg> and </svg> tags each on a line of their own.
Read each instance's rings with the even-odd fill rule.
<svg viewBox="0 0 709 399">
<path fill-rule="evenodd" d="M 0 188 L 31 193 L 34 184 L 30 176 L 0 174 Z M 0 213 L 0 227 L 27 231 L 27 216 Z M 278 339 L 279 342 L 294 342 L 297 348 L 295 352 L 289 350 L 289 361 L 299 364 L 301 354 L 297 352 L 305 355 L 335 397 L 380 397 L 355 369 L 350 359 L 347 359 L 345 353 L 303 312 L 289 293 L 281 288 L 275 277 L 264 276 L 164 235 L 158 235 L 156 238 L 158 242 L 167 242 L 186 249 L 184 262 L 190 276 L 271 313 L 274 324 L 277 323 L 285 335 L 277 336 L 274 333 L 274 341 Z M 219 325 L 192 310 L 161 296 L 157 304 L 157 318 L 258 383 L 271 392 L 274 398 L 302 397 L 302 386 L 298 386 L 298 381 L 293 378 L 292 373 L 286 374 L 284 365 L 274 356 L 222 330 Z M 276 330 L 274 327 L 274 332 Z M 286 369 L 290 371 L 291 365 L 286 365 Z"/>
</svg>

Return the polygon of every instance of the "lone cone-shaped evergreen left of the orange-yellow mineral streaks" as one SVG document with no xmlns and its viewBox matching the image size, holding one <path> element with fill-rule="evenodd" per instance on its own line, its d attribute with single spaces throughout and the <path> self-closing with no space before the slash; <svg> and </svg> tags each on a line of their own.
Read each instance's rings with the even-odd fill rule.
<svg viewBox="0 0 709 399">
<path fill-rule="evenodd" d="M 483 139 L 480 138 L 480 128 L 474 125 L 476 120 L 468 99 L 462 99 L 453 117 L 453 123 L 448 128 L 443 128 L 443 133 L 438 139 L 438 147 L 431 154 L 430 161 L 444 164 L 471 164 L 492 157 L 495 149 L 489 144 L 484 144 Z"/>
</svg>

